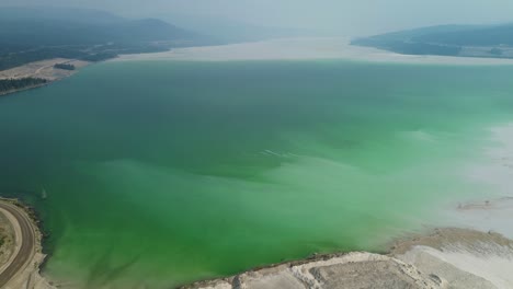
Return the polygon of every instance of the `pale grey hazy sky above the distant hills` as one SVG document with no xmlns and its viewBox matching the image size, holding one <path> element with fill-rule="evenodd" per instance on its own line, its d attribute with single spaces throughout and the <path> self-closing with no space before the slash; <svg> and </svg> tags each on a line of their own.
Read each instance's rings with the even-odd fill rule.
<svg viewBox="0 0 513 289">
<path fill-rule="evenodd" d="M 433 24 L 513 22 L 512 0 L 0 0 L 0 5 L 95 8 L 126 16 L 209 15 L 347 36 Z"/>
</svg>

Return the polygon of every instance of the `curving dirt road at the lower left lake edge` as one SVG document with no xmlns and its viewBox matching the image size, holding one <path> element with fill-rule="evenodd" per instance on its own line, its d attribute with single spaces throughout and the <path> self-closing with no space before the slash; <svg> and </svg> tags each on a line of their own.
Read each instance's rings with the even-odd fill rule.
<svg viewBox="0 0 513 289">
<path fill-rule="evenodd" d="M 0 201 L 0 208 L 9 211 L 18 221 L 21 228 L 21 242 L 20 251 L 18 252 L 14 259 L 12 259 L 9 267 L 0 273 L 0 288 L 3 288 L 20 270 L 22 270 L 25 264 L 33 257 L 35 251 L 35 232 L 31 224 L 31 220 L 26 213 L 22 212 L 22 209 L 9 203 Z"/>
</svg>

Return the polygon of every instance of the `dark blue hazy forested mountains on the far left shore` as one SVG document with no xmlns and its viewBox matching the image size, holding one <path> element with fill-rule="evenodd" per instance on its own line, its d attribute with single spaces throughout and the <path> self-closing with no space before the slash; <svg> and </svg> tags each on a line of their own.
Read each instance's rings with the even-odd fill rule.
<svg viewBox="0 0 513 289">
<path fill-rule="evenodd" d="M 95 61 L 218 43 L 158 19 L 128 20 L 86 9 L 0 9 L 0 70 L 48 58 Z"/>
</svg>

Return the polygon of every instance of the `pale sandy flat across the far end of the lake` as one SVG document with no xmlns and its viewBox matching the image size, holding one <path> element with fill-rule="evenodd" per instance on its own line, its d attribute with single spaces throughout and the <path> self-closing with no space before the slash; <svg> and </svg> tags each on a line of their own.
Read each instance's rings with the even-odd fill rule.
<svg viewBox="0 0 513 289">
<path fill-rule="evenodd" d="M 176 48 L 166 53 L 123 55 L 126 60 L 306 60 L 347 59 L 376 62 L 438 65 L 513 65 L 513 59 L 399 55 L 352 46 L 347 38 L 286 38 L 221 46 Z"/>
</svg>

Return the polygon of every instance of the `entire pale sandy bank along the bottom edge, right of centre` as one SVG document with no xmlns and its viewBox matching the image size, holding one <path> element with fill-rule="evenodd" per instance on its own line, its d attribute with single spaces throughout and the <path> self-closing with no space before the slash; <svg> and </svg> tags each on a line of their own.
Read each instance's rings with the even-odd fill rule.
<svg viewBox="0 0 513 289">
<path fill-rule="evenodd" d="M 183 288 L 512 288 L 513 241 L 464 229 L 397 242 L 388 255 L 316 256 Z"/>
</svg>

